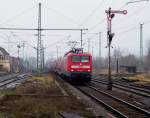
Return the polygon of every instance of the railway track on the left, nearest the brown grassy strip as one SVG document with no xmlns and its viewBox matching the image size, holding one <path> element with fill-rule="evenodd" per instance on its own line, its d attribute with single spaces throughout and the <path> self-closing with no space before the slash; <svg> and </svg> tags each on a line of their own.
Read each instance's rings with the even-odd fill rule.
<svg viewBox="0 0 150 118">
<path fill-rule="evenodd" d="M 16 74 L 16 75 L 10 76 L 7 79 L 0 81 L 0 88 L 3 88 L 5 86 L 12 84 L 14 82 L 17 82 L 19 80 L 24 80 L 24 79 L 26 79 L 26 77 L 27 77 L 26 74 L 21 74 L 21 75 Z"/>
</svg>

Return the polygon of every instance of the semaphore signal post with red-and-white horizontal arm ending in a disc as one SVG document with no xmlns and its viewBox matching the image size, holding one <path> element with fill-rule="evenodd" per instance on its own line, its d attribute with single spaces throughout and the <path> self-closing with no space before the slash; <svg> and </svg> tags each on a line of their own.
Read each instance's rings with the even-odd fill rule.
<svg viewBox="0 0 150 118">
<path fill-rule="evenodd" d="M 118 10 L 111 10 L 109 8 L 105 11 L 107 14 L 107 47 L 108 47 L 108 90 L 112 90 L 112 79 L 111 79 L 111 55 L 110 55 L 110 49 L 111 49 L 111 42 L 114 37 L 114 33 L 112 33 L 112 19 L 114 18 L 115 14 L 127 14 L 127 11 L 118 11 Z"/>
</svg>

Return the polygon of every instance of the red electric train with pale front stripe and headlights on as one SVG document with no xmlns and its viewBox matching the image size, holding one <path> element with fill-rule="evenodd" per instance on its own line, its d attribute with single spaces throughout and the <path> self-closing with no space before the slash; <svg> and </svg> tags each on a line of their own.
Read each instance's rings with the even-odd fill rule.
<svg viewBox="0 0 150 118">
<path fill-rule="evenodd" d="M 73 49 L 66 53 L 57 66 L 58 73 L 71 80 L 83 82 L 91 80 L 92 56 L 89 53 L 83 53 L 82 49 Z"/>
</svg>

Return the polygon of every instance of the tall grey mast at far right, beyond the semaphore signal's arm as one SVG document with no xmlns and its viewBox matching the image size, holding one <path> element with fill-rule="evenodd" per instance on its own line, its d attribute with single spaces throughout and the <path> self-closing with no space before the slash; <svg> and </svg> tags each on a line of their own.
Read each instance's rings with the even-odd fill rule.
<svg viewBox="0 0 150 118">
<path fill-rule="evenodd" d="M 143 24 L 140 24 L 140 69 L 143 71 Z"/>
</svg>

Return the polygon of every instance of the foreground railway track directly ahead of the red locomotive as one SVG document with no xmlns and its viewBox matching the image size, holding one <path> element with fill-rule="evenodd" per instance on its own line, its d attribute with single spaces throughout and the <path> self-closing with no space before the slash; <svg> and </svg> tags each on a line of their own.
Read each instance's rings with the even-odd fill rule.
<svg viewBox="0 0 150 118">
<path fill-rule="evenodd" d="M 107 110 L 111 111 L 119 118 L 149 118 L 150 112 L 128 103 L 120 98 L 108 94 L 105 91 L 95 88 L 92 85 L 76 87 L 82 93 L 91 97 L 93 100 L 102 104 Z"/>
</svg>

